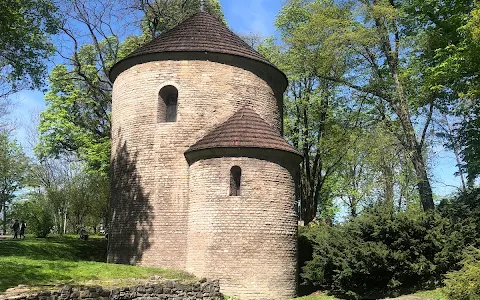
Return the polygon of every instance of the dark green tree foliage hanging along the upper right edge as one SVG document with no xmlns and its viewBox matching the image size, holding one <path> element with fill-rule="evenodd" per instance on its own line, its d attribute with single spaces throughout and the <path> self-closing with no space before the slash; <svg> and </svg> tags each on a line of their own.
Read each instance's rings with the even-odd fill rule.
<svg viewBox="0 0 480 300">
<path fill-rule="evenodd" d="M 446 144 L 463 160 L 459 173 L 465 172 L 471 185 L 480 175 L 479 2 L 446 1 L 438 8 L 429 1 L 407 3 L 408 11 L 418 16 L 410 26 L 424 28 L 418 57 L 424 76 L 432 89 L 442 92 L 442 113 L 458 120 L 444 135 Z"/>
</svg>

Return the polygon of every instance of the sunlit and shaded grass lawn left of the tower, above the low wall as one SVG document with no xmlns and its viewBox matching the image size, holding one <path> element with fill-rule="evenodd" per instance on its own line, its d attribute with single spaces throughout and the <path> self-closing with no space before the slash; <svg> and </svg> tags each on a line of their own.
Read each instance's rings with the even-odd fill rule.
<svg viewBox="0 0 480 300">
<path fill-rule="evenodd" d="M 183 281 L 195 277 L 182 271 L 107 264 L 106 240 L 49 237 L 0 240 L 0 292 L 19 284 L 38 286 L 58 283 L 111 285 L 131 278 L 161 276 Z"/>
</svg>

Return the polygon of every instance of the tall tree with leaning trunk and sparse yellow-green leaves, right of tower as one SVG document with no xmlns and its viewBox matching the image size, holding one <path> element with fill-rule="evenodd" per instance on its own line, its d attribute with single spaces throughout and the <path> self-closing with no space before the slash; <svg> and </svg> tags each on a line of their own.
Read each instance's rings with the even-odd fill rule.
<svg viewBox="0 0 480 300">
<path fill-rule="evenodd" d="M 393 0 L 292 0 L 280 20 L 283 30 L 289 31 L 290 43 L 317 49 L 312 64 L 345 67 L 341 73 L 319 68 L 319 78 L 372 97 L 376 117 L 409 154 L 420 201 L 430 210 L 434 203 L 424 152 L 439 94 L 429 88 L 421 68 L 414 68 L 412 40 L 419 33 L 405 26 L 414 17 Z"/>
</svg>

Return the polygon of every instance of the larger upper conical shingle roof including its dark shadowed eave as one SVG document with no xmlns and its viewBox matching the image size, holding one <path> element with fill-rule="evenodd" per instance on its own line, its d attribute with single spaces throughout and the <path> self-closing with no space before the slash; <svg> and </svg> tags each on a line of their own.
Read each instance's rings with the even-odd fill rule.
<svg viewBox="0 0 480 300">
<path fill-rule="evenodd" d="M 267 81 L 277 93 L 283 93 L 288 85 L 282 71 L 207 12 L 191 16 L 133 51 L 115 63 L 108 76 L 114 82 L 135 65 L 163 60 L 208 60 L 240 67 Z"/>
</svg>

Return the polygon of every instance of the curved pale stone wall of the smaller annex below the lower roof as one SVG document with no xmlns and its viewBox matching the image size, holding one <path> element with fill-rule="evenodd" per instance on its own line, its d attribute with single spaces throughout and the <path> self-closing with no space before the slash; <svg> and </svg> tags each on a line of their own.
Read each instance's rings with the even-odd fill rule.
<svg viewBox="0 0 480 300">
<path fill-rule="evenodd" d="M 239 166 L 241 196 L 229 196 Z M 296 291 L 295 182 L 277 162 L 248 157 L 190 166 L 187 271 L 220 279 L 241 299 L 288 299 Z"/>
</svg>

